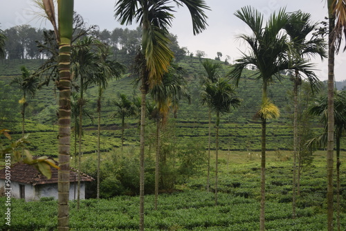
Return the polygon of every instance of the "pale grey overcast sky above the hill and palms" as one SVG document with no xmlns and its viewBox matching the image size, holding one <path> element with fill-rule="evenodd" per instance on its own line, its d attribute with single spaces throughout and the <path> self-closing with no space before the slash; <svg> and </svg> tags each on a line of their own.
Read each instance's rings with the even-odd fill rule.
<svg viewBox="0 0 346 231">
<path fill-rule="evenodd" d="M 15 0 L 3 2 L 0 9 L 0 28 L 6 30 L 12 26 L 30 24 L 36 28 L 50 28 L 50 23 L 33 17 L 37 11 L 32 0 Z M 82 15 L 84 21 L 91 25 L 98 25 L 100 30 L 125 28 L 114 19 L 115 0 L 75 0 L 75 11 Z M 221 59 L 229 55 L 233 59 L 241 56 L 241 51 L 246 51 L 242 41 L 235 39 L 239 33 L 250 33 L 248 27 L 233 14 L 243 6 L 251 5 L 260 10 L 265 17 L 275 10 L 286 7 L 287 12 L 302 10 L 309 12 L 313 21 L 321 21 L 327 16 L 326 0 L 206 0 L 211 10 L 208 16 L 208 28 L 200 35 L 192 34 L 191 19 L 187 8 L 175 8 L 173 27 L 170 32 L 178 37 L 179 46 L 185 46 L 192 53 L 202 50 L 208 58 L 214 59 L 217 52 L 222 53 Z M 134 29 L 138 25 L 129 28 Z M 320 80 L 327 80 L 327 62 L 316 63 L 316 74 Z M 345 75 L 346 55 L 341 54 L 336 59 L 336 80 L 346 80 Z"/>
</svg>

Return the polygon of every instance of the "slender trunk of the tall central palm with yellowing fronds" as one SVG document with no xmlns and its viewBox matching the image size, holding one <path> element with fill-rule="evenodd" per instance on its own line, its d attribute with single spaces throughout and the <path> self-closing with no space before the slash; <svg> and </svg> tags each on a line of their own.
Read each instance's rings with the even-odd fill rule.
<svg viewBox="0 0 346 231">
<path fill-rule="evenodd" d="M 145 151 L 145 95 L 147 94 L 145 84 L 145 74 L 142 77 L 142 101 L 140 107 L 140 178 L 139 178 L 139 230 L 144 230 L 144 151 Z"/>
</svg>

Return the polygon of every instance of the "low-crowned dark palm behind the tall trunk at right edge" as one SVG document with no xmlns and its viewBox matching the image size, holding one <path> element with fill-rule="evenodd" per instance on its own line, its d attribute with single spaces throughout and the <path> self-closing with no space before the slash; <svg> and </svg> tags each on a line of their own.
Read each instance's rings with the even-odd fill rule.
<svg viewBox="0 0 346 231">
<path fill-rule="evenodd" d="M 311 142 L 315 142 L 318 147 L 327 145 L 328 131 L 328 98 L 321 96 L 316 102 L 309 107 L 311 115 L 320 116 L 320 122 L 325 125 L 325 132 L 318 138 L 313 138 Z M 336 208 L 337 208 L 337 223 L 340 230 L 340 140 L 346 134 L 346 91 L 335 91 L 334 93 L 334 135 L 336 140 Z"/>
</svg>

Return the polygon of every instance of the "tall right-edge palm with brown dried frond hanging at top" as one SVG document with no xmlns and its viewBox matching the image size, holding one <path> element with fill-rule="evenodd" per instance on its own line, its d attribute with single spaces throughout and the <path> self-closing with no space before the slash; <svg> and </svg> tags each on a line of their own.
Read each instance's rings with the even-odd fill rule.
<svg viewBox="0 0 346 231">
<path fill-rule="evenodd" d="M 346 3 L 327 0 L 328 33 L 328 135 L 327 135 L 327 230 L 333 230 L 333 167 L 334 167 L 334 62 L 335 52 L 340 49 L 343 35 L 346 37 Z M 346 48 L 346 46 L 345 46 Z M 345 51 L 344 48 L 344 51 Z M 340 230 L 340 224 L 338 224 Z"/>
</svg>

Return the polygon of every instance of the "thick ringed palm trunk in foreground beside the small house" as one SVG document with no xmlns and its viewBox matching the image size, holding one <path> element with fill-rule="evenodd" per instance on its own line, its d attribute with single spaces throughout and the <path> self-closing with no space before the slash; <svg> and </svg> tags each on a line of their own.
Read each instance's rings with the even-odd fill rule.
<svg viewBox="0 0 346 231">
<path fill-rule="evenodd" d="M 59 167 L 57 182 L 57 230 L 69 230 L 70 138 L 71 138 L 71 37 L 73 0 L 58 1 L 59 19 Z"/>
</svg>

